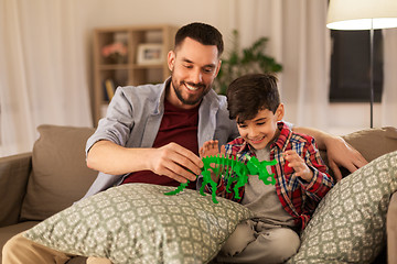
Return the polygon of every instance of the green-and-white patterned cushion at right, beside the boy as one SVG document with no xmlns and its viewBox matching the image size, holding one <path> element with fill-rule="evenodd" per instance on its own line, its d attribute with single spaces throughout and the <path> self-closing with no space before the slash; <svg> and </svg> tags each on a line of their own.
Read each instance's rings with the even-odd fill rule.
<svg viewBox="0 0 397 264">
<path fill-rule="evenodd" d="M 386 243 L 396 189 L 397 152 L 343 178 L 320 202 L 288 263 L 372 263 Z"/>
</svg>

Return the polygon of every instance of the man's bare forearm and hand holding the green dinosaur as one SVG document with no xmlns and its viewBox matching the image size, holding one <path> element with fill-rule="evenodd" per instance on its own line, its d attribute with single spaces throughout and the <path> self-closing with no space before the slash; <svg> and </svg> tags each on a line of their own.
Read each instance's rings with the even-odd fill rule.
<svg viewBox="0 0 397 264">
<path fill-rule="evenodd" d="M 159 148 L 124 147 L 103 140 L 89 150 L 87 166 L 111 175 L 152 170 L 158 175 L 186 183 L 187 179 L 196 179 L 204 164 L 193 152 L 176 143 L 169 143 Z"/>
</svg>

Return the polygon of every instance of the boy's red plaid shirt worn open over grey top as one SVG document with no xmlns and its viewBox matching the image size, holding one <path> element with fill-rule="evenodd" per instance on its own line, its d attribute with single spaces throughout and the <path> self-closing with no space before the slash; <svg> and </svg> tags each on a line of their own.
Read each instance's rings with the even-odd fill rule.
<svg viewBox="0 0 397 264">
<path fill-rule="evenodd" d="M 294 133 L 282 122 L 278 123 L 278 128 L 280 135 L 270 145 L 270 161 L 276 158 L 278 162 L 271 167 L 276 178 L 276 193 L 285 210 L 293 217 L 297 227 L 301 227 L 303 230 L 320 200 L 332 188 L 333 179 L 328 174 L 328 168 L 320 157 L 313 138 Z M 236 156 L 244 163 L 247 163 L 246 154 L 255 156 L 253 147 L 242 138 L 227 143 L 225 148 L 226 155 Z M 311 182 L 294 176 L 294 169 L 288 167 L 288 162 L 282 156 L 287 150 L 296 151 L 305 161 L 308 167 L 313 172 Z M 234 184 L 230 185 L 230 189 Z M 226 191 L 226 179 L 221 177 L 216 195 L 240 202 L 245 188 L 239 189 L 242 199 L 235 199 L 233 191 Z M 205 188 L 211 193 L 208 185 Z"/>
</svg>

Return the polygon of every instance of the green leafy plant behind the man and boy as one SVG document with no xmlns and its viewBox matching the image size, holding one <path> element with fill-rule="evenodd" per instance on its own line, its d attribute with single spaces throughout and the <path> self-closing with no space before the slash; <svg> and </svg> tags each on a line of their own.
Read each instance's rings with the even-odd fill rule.
<svg viewBox="0 0 397 264">
<path fill-rule="evenodd" d="M 281 64 L 265 54 L 268 41 L 268 37 L 259 37 L 249 47 L 240 51 L 238 31 L 233 31 L 233 48 L 222 58 L 221 70 L 215 79 L 215 90 L 219 95 L 226 95 L 227 86 L 242 75 L 282 70 Z"/>
</svg>

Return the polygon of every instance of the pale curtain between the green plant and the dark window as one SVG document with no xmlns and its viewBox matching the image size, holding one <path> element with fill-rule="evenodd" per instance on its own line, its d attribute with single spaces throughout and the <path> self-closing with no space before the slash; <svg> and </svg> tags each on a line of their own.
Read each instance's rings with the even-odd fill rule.
<svg viewBox="0 0 397 264">
<path fill-rule="evenodd" d="M 225 3 L 225 2 L 223 2 Z M 267 53 L 283 65 L 279 74 L 286 120 L 326 129 L 329 32 L 326 1 L 229 1 L 227 23 L 240 33 L 242 46 L 268 36 Z M 227 41 L 227 40 L 226 40 Z"/>
</svg>

